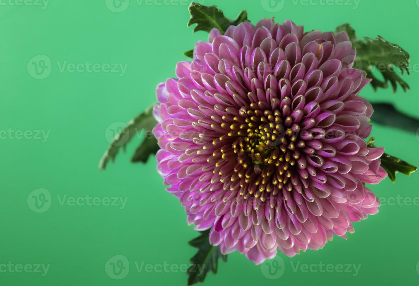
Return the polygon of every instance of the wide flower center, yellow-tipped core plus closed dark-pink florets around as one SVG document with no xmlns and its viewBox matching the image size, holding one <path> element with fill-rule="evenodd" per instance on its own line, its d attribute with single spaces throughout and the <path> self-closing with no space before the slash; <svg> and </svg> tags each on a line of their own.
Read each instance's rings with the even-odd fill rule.
<svg viewBox="0 0 419 286">
<path fill-rule="evenodd" d="M 225 107 L 225 115 L 211 117 L 215 121 L 211 128 L 222 133 L 202 151 L 212 149 L 207 162 L 215 163 L 213 174 L 218 175 L 211 179 L 212 184 L 220 181 L 224 189 L 237 190 L 244 199 L 255 197 L 262 202 L 279 192 L 287 200 L 293 189 L 301 193 L 303 186 L 308 187 L 307 161 L 301 152 L 315 152 L 305 144 L 313 138 L 310 128 L 315 120 L 303 118 L 303 111 L 296 108 L 298 102 L 296 106 L 291 103 L 289 97 L 274 98 L 270 107 L 266 102 L 252 102 L 238 110 Z M 222 111 L 221 106 L 216 108 Z M 233 160 L 237 163 L 232 168 Z M 314 172 L 313 168 L 309 171 Z"/>
</svg>

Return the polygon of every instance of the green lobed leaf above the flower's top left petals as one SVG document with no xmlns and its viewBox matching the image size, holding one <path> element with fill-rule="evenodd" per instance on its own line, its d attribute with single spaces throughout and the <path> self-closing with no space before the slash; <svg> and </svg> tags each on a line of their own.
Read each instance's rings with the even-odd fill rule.
<svg viewBox="0 0 419 286">
<path fill-rule="evenodd" d="M 217 6 L 204 6 L 199 3 L 191 3 L 189 14 L 191 14 L 191 18 L 188 27 L 197 24 L 194 32 L 207 31 L 209 33 L 213 28 L 217 28 L 224 34 L 229 26 L 237 26 L 247 20 L 246 10 L 241 11 L 235 20 L 230 20 L 224 17 L 224 13 Z"/>
</svg>

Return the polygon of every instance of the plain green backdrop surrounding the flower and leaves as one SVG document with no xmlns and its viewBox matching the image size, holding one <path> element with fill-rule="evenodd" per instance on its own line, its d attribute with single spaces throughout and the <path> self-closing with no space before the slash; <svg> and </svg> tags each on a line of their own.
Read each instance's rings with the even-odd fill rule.
<svg viewBox="0 0 419 286">
<path fill-rule="evenodd" d="M 399 89 L 394 95 L 390 89 L 374 92 L 367 87 L 362 95 L 371 102 L 394 102 L 404 112 L 417 115 L 418 5 L 414 0 L 360 0 L 354 9 L 354 1 L 347 1 L 279 1 L 284 7 L 276 13 L 265 10 L 259 0 L 205 0 L 204 4 L 218 5 L 230 18 L 246 9 L 252 23 L 263 17 L 275 17 L 281 23 L 290 18 L 304 24 L 305 31 L 330 31 L 349 22 L 358 36 L 381 35 L 399 44 L 410 52 L 411 64 L 416 66 L 405 77 L 411 91 Z M 173 77 L 176 62 L 186 59 L 183 52 L 197 40 L 205 40 L 207 33 L 193 34 L 192 28 L 186 28 L 189 15 L 184 0 L 130 2 L 121 13 L 109 10 L 104 0 L 50 0 L 47 7 L 12 5 L 19 0 L 1 2 L 0 130 L 44 130 L 49 137 L 8 135 L 0 140 L 0 264 L 50 264 L 46 276 L 0 273 L 2 285 L 186 284 L 186 274 L 170 267 L 150 273 L 135 268 L 135 262 L 153 267 L 167 263 L 176 270 L 189 263 L 195 249 L 187 241 L 197 236 L 186 224 L 177 199 L 165 191 L 155 160 L 146 165 L 129 163 L 140 139 L 134 139 L 106 171 L 97 166 L 112 129 L 155 102 L 156 84 Z M 27 69 L 38 55 L 52 61 L 51 74 L 45 79 L 31 77 Z M 60 71 L 57 61 L 128 66 L 120 76 L 103 69 Z M 415 134 L 375 125 L 373 135 L 388 153 L 419 165 Z M 233 253 L 228 263 L 220 263 L 217 275 L 207 276 L 205 285 L 417 285 L 419 206 L 403 199 L 391 205 L 391 198 L 418 197 L 418 183 L 418 174 L 410 178 L 398 174 L 395 184 L 386 179 L 372 186 L 390 204 L 380 207 L 378 215 L 354 223 L 355 234 L 349 234 L 347 241 L 335 237 L 323 250 L 309 250 L 294 258 L 281 254 L 285 272 L 279 279 L 269 279 L 275 277 L 264 275 L 264 268 Z M 48 211 L 36 213 L 29 207 L 28 196 L 40 188 L 50 192 L 52 204 Z M 127 204 L 124 209 L 60 205 L 57 195 L 127 197 Z M 129 273 L 122 280 L 110 278 L 105 271 L 114 255 L 124 255 L 129 261 Z M 352 273 L 339 273 L 336 268 L 331 273 L 294 271 L 297 263 L 361 266 L 354 276 L 353 268 Z"/>
</svg>

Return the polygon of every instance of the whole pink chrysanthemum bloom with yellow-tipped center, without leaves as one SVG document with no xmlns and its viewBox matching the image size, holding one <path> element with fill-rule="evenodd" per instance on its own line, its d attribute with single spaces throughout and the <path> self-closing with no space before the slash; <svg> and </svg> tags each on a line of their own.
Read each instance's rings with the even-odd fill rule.
<svg viewBox="0 0 419 286">
<path fill-rule="evenodd" d="M 346 238 L 378 212 L 383 148 L 365 143 L 370 79 L 347 33 L 286 20 L 214 29 L 157 88 L 158 171 L 196 230 L 261 263 Z"/>
</svg>

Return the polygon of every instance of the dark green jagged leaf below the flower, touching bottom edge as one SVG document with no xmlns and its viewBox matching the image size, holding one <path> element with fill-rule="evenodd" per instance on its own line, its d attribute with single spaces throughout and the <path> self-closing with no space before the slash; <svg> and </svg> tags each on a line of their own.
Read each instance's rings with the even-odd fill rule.
<svg viewBox="0 0 419 286">
<path fill-rule="evenodd" d="M 189 241 L 189 245 L 198 248 L 198 252 L 191 258 L 192 266 L 187 272 L 188 285 L 203 282 L 209 271 L 217 274 L 219 258 L 227 261 L 227 255 L 221 254 L 220 247 L 209 243 L 209 231 L 202 231 L 199 237 Z"/>
</svg>

